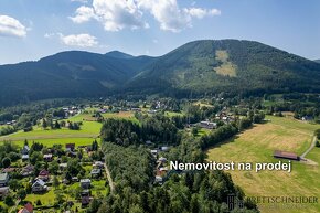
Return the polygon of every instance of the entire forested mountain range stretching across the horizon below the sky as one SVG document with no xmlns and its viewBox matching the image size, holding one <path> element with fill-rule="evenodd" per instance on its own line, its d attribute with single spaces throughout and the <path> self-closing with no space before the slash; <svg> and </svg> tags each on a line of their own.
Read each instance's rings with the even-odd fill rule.
<svg viewBox="0 0 320 213">
<path fill-rule="evenodd" d="M 0 66 L 0 106 L 109 94 L 320 92 L 320 64 L 252 41 L 204 40 L 160 56 L 71 51 Z"/>
</svg>

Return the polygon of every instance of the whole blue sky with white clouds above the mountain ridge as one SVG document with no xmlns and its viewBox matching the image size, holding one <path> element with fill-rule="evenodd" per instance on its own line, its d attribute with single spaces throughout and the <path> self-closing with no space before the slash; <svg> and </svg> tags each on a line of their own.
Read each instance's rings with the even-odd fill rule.
<svg viewBox="0 0 320 213">
<path fill-rule="evenodd" d="M 201 39 L 254 40 L 320 58 L 320 1 L 0 1 L 0 64 L 68 50 L 162 55 Z"/>
</svg>

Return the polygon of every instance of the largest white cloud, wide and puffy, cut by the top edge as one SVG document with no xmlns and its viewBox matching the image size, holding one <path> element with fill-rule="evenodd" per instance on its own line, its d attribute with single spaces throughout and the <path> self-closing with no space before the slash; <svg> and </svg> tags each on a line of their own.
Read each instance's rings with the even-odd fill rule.
<svg viewBox="0 0 320 213">
<path fill-rule="evenodd" d="M 180 8 L 177 0 L 93 0 L 93 7 L 81 7 L 71 19 L 83 23 L 96 19 L 106 31 L 149 28 L 143 13 L 150 13 L 160 29 L 180 32 L 192 26 L 192 19 L 221 14 L 217 9 Z"/>
</svg>

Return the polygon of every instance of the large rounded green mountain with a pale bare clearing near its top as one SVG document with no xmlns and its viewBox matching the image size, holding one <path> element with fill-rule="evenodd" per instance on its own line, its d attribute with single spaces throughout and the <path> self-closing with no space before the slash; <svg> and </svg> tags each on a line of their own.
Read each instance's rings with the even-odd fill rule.
<svg viewBox="0 0 320 213">
<path fill-rule="evenodd" d="M 135 76 L 127 90 L 320 92 L 320 64 L 252 41 L 184 44 Z"/>
</svg>

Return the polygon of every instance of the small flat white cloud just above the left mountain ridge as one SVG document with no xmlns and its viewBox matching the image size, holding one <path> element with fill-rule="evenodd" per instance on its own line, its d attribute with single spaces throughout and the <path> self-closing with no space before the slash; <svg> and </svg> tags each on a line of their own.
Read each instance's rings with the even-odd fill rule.
<svg viewBox="0 0 320 213">
<path fill-rule="evenodd" d="M 71 34 L 63 35 L 60 33 L 62 43 L 68 46 L 92 47 L 98 44 L 97 38 L 90 34 Z"/>
</svg>

